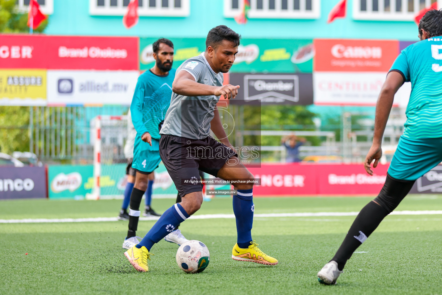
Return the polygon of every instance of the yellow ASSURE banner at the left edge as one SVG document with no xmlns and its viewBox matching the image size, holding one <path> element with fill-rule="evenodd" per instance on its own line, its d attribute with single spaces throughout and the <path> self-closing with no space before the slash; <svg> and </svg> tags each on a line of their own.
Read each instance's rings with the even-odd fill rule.
<svg viewBox="0 0 442 295">
<path fill-rule="evenodd" d="M 0 69 L 0 105 L 46 105 L 46 70 Z"/>
</svg>

